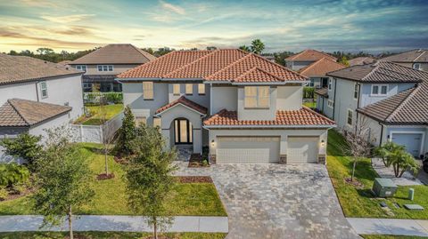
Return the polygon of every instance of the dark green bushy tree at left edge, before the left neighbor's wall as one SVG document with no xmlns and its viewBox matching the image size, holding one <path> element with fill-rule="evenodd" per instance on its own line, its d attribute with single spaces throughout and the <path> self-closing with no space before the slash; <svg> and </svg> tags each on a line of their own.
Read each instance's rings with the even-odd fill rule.
<svg viewBox="0 0 428 239">
<path fill-rule="evenodd" d="M 5 148 L 6 155 L 21 157 L 29 163 L 29 169 L 33 170 L 33 165 L 42 150 L 40 146 L 40 136 L 29 133 L 21 133 L 17 139 L 4 139 L 0 141 L 0 146 Z"/>
</svg>

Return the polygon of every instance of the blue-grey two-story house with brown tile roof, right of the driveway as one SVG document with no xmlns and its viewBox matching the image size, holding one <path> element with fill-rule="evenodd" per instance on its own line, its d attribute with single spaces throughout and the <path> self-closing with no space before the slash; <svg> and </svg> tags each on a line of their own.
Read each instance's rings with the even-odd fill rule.
<svg viewBox="0 0 428 239">
<path fill-rule="evenodd" d="M 327 75 L 328 87 L 316 90 L 317 109 L 340 130 L 362 123 L 375 145 L 391 140 L 415 156 L 428 151 L 428 73 L 379 61 Z"/>
</svg>

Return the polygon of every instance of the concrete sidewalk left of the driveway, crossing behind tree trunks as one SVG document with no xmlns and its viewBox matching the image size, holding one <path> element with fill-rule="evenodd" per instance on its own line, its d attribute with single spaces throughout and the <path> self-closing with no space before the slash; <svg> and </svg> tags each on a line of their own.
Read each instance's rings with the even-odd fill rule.
<svg viewBox="0 0 428 239">
<path fill-rule="evenodd" d="M 0 232 L 19 231 L 67 231 L 68 223 L 64 221 L 62 227 L 45 227 L 42 225 L 42 216 L 20 215 L 0 216 Z M 152 232 L 140 216 L 78 216 L 73 221 L 75 231 L 118 231 L 118 232 Z M 201 232 L 227 233 L 227 217 L 174 217 L 172 227 L 167 232 Z"/>
</svg>

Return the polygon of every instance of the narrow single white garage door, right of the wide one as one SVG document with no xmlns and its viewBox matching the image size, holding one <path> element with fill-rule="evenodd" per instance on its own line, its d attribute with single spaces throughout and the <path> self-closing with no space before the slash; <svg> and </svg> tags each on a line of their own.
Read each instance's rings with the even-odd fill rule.
<svg viewBox="0 0 428 239">
<path fill-rule="evenodd" d="M 287 163 L 317 163 L 318 137 L 288 137 Z"/>
</svg>

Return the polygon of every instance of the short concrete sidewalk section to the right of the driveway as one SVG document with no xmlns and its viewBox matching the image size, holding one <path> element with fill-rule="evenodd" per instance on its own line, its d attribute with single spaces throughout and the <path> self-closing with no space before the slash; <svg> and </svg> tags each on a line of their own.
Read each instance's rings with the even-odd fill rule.
<svg viewBox="0 0 428 239">
<path fill-rule="evenodd" d="M 347 218 L 359 235 L 428 236 L 428 220 Z"/>
</svg>

